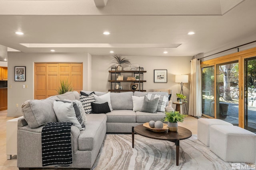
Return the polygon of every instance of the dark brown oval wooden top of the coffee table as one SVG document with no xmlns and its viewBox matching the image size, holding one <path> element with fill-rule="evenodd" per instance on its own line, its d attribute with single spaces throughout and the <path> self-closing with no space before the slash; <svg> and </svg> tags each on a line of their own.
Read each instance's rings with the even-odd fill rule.
<svg viewBox="0 0 256 170">
<path fill-rule="evenodd" d="M 134 132 L 144 137 L 159 139 L 159 140 L 166 140 L 166 141 L 183 140 L 183 139 L 188 139 L 192 136 L 192 132 L 190 130 L 180 126 L 178 126 L 177 132 L 165 131 L 165 132 L 158 133 L 158 132 L 150 131 L 143 125 L 138 125 L 134 127 Z"/>
</svg>

